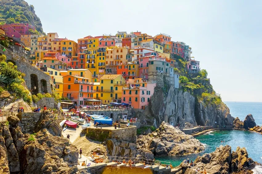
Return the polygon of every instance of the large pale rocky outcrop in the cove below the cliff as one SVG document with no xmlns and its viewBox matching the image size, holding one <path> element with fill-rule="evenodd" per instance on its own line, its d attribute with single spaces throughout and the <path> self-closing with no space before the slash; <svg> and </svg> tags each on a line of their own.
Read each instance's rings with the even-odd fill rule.
<svg viewBox="0 0 262 174">
<path fill-rule="evenodd" d="M 178 127 L 162 122 L 156 132 L 138 137 L 137 149 L 147 149 L 155 155 L 178 155 L 201 152 L 204 146 Z"/>
</svg>

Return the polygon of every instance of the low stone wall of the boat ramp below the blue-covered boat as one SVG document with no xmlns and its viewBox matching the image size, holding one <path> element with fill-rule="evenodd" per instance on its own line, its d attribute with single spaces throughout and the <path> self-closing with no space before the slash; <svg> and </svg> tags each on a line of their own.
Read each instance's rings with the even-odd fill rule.
<svg viewBox="0 0 262 174">
<path fill-rule="evenodd" d="M 87 128 L 86 136 L 98 141 L 104 141 L 106 139 L 116 139 L 121 141 L 128 141 L 130 143 L 136 143 L 137 127 L 130 126 L 114 130 Z"/>
</svg>

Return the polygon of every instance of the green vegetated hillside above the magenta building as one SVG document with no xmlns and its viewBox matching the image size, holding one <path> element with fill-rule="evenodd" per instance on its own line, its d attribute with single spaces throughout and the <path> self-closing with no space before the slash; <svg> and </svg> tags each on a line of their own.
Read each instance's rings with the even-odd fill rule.
<svg viewBox="0 0 262 174">
<path fill-rule="evenodd" d="M 0 0 L 0 25 L 5 23 L 29 23 L 43 34 L 42 23 L 35 14 L 34 6 L 24 0 Z M 33 32 L 32 34 L 37 34 Z"/>
</svg>

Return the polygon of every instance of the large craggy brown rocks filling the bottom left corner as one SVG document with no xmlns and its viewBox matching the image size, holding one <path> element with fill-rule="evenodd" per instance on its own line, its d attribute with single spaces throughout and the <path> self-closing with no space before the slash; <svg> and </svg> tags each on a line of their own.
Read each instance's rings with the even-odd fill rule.
<svg viewBox="0 0 262 174">
<path fill-rule="evenodd" d="M 67 138 L 57 136 L 62 130 L 50 112 L 43 112 L 37 126 L 40 130 L 34 135 L 21 132 L 16 116 L 8 117 L 8 122 L 9 125 L 0 125 L 0 171 L 3 173 L 86 173 L 70 168 L 78 163 L 78 149 Z"/>
</svg>

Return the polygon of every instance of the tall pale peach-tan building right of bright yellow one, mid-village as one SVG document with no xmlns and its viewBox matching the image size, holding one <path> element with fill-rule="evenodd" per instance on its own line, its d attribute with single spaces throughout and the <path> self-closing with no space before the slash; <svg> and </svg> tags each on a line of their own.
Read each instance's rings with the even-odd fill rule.
<svg viewBox="0 0 262 174">
<path fill-rule="evenodd" d="M 128 61 L 126 55 L 129 53 L 129 47 L 107 47 L 106 50 L 106 74 L 117 74 L 117 66 L 124 65 Z"/>
</svg>

